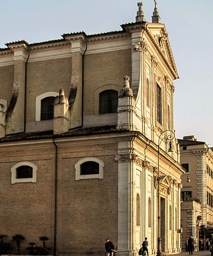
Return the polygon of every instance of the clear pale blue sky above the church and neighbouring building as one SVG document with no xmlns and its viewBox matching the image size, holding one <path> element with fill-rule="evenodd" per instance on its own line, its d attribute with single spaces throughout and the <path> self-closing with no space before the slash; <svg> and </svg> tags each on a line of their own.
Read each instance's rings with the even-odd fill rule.
<svg viewBox="0 0 213 256">
<path fill-rule="evenodd" d="M 25 39 L 30 44 L 121 30 L 134 22 L 137 0 L 0 0 L 0 47 Z M 213 0 L 157 0 L 180 79 L 174 81 L 176 137 L 194 134 L 213 147 Z M 151 22 L 153 0 L 143 0 Z"/>
</svg>

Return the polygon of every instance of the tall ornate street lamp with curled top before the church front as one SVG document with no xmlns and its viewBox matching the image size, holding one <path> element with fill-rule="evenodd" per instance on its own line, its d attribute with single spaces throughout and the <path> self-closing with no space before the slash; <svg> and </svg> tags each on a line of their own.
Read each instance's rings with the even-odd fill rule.
<svg viewBox="0 0 213 256">
<path fill-rule="evenodd" d="M 172 140 L 175 137 L 175 133 L 171 130 L 165 130 L 162 131 L 161 134 L 159 135 L 158 138 L 158 177 L 157 177 L 157 182 L 158 182 L 158 247 L 157 247 L 157 256 L 163 256 L 162 251 L 161 251 L 161 234 L 160 234 L 160 182 L 164 180 L 166 176 L 160 176 L 160 171 L 159 171 L 159 155 L 160 155 L 160 145 L 161 142 L 164 140 L 166 143 L 169 141 L 169 149 L 168 152 L 172 152 Z"/>
</svg>

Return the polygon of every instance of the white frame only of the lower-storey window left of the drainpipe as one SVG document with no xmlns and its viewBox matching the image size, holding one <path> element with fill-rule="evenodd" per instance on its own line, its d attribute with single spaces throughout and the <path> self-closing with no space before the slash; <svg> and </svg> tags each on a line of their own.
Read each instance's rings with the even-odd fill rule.
<svg viewBox="0 0 213 256">
<path fill-rule="evenodd" d="M 20 166 L 30 166 L 32 167 L 32 178 L 23 178 L 23 179 L 17 179 L 16 177 L 16 169 Z M 36 182 L 36 172 L 37 172 L 37 166 L 34 163 L 24 161 L 14 164 L 11 167 L 11 184 L 14 183 L 24 183 L 24 182 Z"/>
</svg>

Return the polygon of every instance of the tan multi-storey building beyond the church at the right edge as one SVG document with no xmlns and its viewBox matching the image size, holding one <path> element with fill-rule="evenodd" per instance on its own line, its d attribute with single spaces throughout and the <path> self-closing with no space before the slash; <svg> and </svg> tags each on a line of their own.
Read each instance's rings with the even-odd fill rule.
<svg viewBox="0 0 213 256">
<path fill-rule="evenodd" d="M 181 224 L 183 240 L 198 238 L 201 227 L 213 227 L 213 150 L 194 135 L 178 139 L 181 165 Z M 190 181 L 190 182 L 189 182 Z"/>
</svg>

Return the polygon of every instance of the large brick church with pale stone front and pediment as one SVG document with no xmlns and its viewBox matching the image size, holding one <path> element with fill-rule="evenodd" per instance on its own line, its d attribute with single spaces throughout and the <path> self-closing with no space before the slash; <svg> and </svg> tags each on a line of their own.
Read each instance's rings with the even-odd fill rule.
<svg viewBox="0 0 213 256">
<path fill-rule="evenodd" d="M 0 49 L 0 230 L 23 254 L 40 236 L 52 255 L 181 250 L 167 31 L 142 3 L 121 28 Z"/>
</svg>

